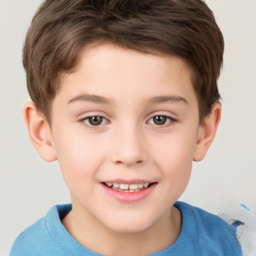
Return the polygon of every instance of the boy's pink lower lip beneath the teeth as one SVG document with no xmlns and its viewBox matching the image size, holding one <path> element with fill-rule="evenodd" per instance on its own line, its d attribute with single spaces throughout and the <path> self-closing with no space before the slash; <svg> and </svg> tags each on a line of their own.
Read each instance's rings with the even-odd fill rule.
<svg viewBox="0 0 256 256">
<path fill-rule="evenodd" d="M 149 187 L 137 192 L 122 192 L 118 190 L 114 190 L 110 187 L 105 186 L 100 183 L 104 191 L 110 195 L 112 198 L 124 202 L 124 203 L 134 203 L 139 202 L 145 199 L 152 191 L 154 190 L 156 183 L 151 184 Z"/>
</svg>

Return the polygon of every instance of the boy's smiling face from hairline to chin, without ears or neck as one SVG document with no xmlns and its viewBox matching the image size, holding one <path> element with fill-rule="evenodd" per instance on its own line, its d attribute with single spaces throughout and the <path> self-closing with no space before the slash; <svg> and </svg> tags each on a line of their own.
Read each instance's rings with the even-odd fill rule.
<svg viewBox="0 0 256 256">
<path fill-rule="evenodd" d="M 198 123 L 182 60 L 111 44 L 84 49 L 52 102 L 52 141 L 72 210 L 128 233 L 168 218 L 189 180 Z"/>
</svg>

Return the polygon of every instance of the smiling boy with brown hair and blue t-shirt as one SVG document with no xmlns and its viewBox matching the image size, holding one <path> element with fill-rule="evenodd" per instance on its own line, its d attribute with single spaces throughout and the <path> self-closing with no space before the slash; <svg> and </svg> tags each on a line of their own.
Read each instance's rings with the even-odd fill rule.
<svg viewBox="0 0 256 256">
<path fill-rule="evenodd" d="M 23 64 L 23 116 L 71 205 L 10 255 L 241 255 L 236 226 L 177 202 L 220 119 L 223 38 L 201 0 L 46 0 Z"/>
</svg>

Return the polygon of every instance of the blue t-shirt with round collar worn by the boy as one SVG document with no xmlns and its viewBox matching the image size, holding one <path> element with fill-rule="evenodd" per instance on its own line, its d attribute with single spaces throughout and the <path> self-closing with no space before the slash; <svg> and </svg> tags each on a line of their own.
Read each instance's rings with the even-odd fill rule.
<svg viewBox="0 0 256 256">
<path fill-rule="evenodd" d="M 236 226 L 220 217 L 184 202 L 174 204 L 181 212 L 182 226 L 176 241 L 150 256 L 241 256 L 236 240 Z M 25 229 L 14 241 L 10 256 L 100 256 L 78 243 L 60 219 L 71 210 L 71 204 L 53 206 L 45 217 Z"/>
</svg>

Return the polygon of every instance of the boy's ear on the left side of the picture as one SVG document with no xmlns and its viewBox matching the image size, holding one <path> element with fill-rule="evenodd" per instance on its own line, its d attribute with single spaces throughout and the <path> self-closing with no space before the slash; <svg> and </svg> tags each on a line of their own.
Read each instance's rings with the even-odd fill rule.
<svg viewBox="0 0 256 256">
<path fill-rule="evenodd" d="M 39 114 L 34 102 L 27 101 L 23 107 L 23 119 L 31 143 L 47 162 L 57 159 L 49 123 Z"/>
</svg>

